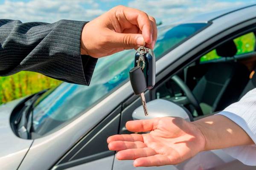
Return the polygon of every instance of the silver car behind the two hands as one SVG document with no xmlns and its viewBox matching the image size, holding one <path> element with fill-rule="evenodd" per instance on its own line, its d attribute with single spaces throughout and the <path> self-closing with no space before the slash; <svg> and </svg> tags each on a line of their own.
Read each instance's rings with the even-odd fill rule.
<svg viewBox="0 0 256 170">
<path fill-rule="evenodd" d="M 0 106 L 0 170 L 250 170 L 222 150 L 181 164 L 133 167 L 106 139 L 125 122 L 159 116 L 194 121 L 223 110 L 254 88 L 256 5 L 202 14 L 158 28 L 156 85 L 143 116 L 129 70 L 134 50 L 99 59 L 90 86 L 56 88 Z"/>
</svg>

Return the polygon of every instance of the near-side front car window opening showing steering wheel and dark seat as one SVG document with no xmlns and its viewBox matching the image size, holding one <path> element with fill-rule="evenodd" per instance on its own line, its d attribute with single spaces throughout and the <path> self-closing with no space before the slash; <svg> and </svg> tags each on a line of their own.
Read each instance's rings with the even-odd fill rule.
<svg viewBox="0 0 256 170">
<path fill-rule="evenodd" d="M 250 53 L 255 48 L 254 33 L 244 34 L 233 42 L 226 41 L 217 49 L 220 51 L 219 54 L 226 56 L 236 53 L 236 58 L 221 59 L 214 49 L 201 57 L 201 63 L 193 62 L 178 71 L 175 76 L 165 78 L 162 84 L 155 87 L 152 96 L 183 105 L 198 118 L 222 111 L 228 105 L 237 102 L 249 81 L 250 64 L 253 64 L 252 57 L 255 57 L 254 53 Z M 237 52 L 225 51 L 234 45 Z M 239 58 L 241 54 L 247 55 Z M 218 62 L 209 62 L 213 60 Z M 249 67 L 247 63 L 250 63 Z M 180 81 L 173 77 L 179 77 Z"/>
</svg>

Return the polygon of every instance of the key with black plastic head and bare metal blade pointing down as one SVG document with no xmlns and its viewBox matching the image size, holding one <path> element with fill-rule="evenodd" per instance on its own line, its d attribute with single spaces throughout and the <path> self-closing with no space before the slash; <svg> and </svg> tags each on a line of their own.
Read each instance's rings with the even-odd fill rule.
<svg viewBox="0 0 256 170">
<path fill-rule="evenodd" d="M 131 87 L 133 88 L 134 94 L 136 95 L 140 94 L 140 99 L 142 102 L 145 116 L 148 116 L 148 108 L 147 108 L 146 99 L 144 96 L 144 91 L 146 90 L 147 85 L 146 85 L 142 68 L 140 66 L 136 66 L 130 70 L 129 74 L 130 74 Z"/>
</svg>

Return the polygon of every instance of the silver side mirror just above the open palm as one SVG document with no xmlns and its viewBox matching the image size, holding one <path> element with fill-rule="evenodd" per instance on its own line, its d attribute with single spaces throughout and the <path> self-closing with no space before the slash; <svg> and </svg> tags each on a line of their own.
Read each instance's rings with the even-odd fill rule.
<svg viewBox="0 0 256 170">
<path fill-rule="evenodd" d="M 140 106 L 134 110 L 132 113 L 132 118 L 134 120 L 140 119 L 153 119 L 157 117 L 180 117 L 186 121 L 192 121 L 191 113 L 174 102 L 170 102 L 164 99 L 155 99 L 147 102 L 148 116 L 144 115 L 143 107 Z"/>
</svg>

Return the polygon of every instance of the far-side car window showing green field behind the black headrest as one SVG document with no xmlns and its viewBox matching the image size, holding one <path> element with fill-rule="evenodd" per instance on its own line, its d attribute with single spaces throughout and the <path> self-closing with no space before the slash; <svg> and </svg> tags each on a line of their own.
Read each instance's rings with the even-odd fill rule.
<svg viewBox="0 0 256 170">
<path fill-rule="evenodd" d="M 250 32 L 248 34 L 244 34 L 240 37 L 237 37 L 233 40 L 236 44 L 237 53 L 236 55 L 246 54 L 249 52 L 255 51 L 255 34 Z M 231 57 L 231 56 L 230 56 Z M 216 50 L 212 50 L 209 53 L 205 54 L 200 58 L 200 62 L 209 62 L 216 59 L 221 59 L 221 56 L 218 56 Z"/>
</svg>

